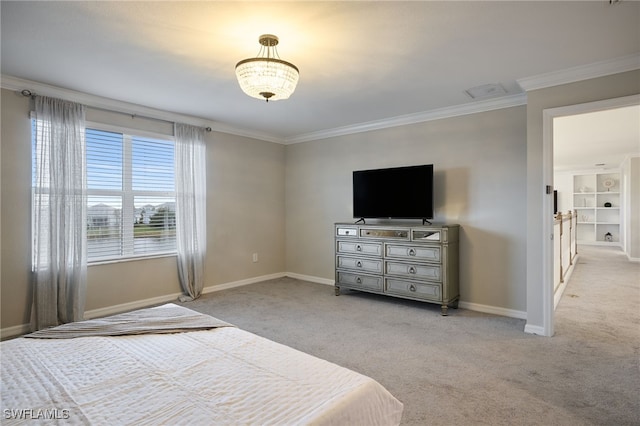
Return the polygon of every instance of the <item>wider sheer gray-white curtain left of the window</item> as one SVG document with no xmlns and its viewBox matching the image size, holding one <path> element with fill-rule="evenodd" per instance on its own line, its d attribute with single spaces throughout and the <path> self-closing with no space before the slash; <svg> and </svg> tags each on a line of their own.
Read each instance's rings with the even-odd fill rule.
<svg viewBox="0 0 640 426">
<path fill-rule="evenodd" d="M 85 108 L 44 96 L 35 107 L 31 326 L 40 330 L 84 315 Z"/>
</svg>

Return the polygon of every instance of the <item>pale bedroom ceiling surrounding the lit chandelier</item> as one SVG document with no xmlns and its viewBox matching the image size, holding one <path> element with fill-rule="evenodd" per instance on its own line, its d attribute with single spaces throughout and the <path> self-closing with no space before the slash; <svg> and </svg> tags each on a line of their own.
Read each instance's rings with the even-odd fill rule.
<svg viewBox="0 0 640 426">
<path fill-rule="evenodd" d="M 523 80 L 640 53 L 635 1 L 3 0 L 0 8 L 4 80 L 200 117 L 279 143 L 522 105 Z M 276 34 L 280 57 L 300 69 L 288 100 L 250 98 L 236 81 L 235 64 L 257 54 L 264 33 Z M 466 93 L 487 84 L 504 93 Z"/>
</svg>

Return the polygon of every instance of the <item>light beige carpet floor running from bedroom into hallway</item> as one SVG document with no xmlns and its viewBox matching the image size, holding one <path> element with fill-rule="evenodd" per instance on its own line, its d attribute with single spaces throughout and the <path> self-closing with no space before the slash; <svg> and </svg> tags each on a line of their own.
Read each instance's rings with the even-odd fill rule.
<svg viewBox="0 0 640 426">
<path fill-rule="evenodd" d="M 182 305 L 376 379 L 404 403 L 403 425 L 639 425 L 640 264 L 613 247 L 579 252 L 552 338 L 292 278 Z"/>
</svg>

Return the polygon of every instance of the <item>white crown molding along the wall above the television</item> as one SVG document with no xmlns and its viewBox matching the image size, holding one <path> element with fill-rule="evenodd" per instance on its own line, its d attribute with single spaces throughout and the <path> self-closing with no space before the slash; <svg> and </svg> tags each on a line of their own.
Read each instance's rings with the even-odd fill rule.
<svg viewBox="0 0 640 426">
<path fill-rule="evenodd" d="M 461 115 L 476 114 L 479 112 L 492 111 L 502 108 L 525 105 L 527 96 L 524 93 L 501 96 L 499 98 L 485 99 L 481 101 L 454 105 L 445 108 L 438 108 L 430 111 L 423 111 L 414 114 L 400 115 L 383 120 L 368 121 L 354 124 L 352 126 L 336 127 L 333 129 L 320 130 L 318 132 L 305 133 L 302 135 L 286 138 L 287 145 L 310 142 L 318 139 L 327 139 L 336 136 L 350 135 L 354 133 L 369 132 L 372 130 L 386 129 L 390 127 L 405 126 L 407 124 L 423 123 L 426 121 L 440 120 L 443 118 L 457 117 Z"/>
</svg>

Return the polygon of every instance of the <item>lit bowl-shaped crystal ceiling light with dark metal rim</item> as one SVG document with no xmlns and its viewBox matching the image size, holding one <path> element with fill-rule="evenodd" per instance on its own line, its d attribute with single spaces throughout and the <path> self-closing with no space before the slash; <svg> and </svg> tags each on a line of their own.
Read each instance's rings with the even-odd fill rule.
<svg viewBox="0 0 640 426">
<path fill-rule="evenodd" d="M 243 59 L 236 65 L 240 88 L 247 95 L 266 99 L 267 102 L 269 99 L 278 101 L 289 98 L 298 84 L 298 68 L 280 59 L 276 50 L 278 37 L 263 34 L 258 41 L 261 44 L 258 56 Z"/>
</svg>

